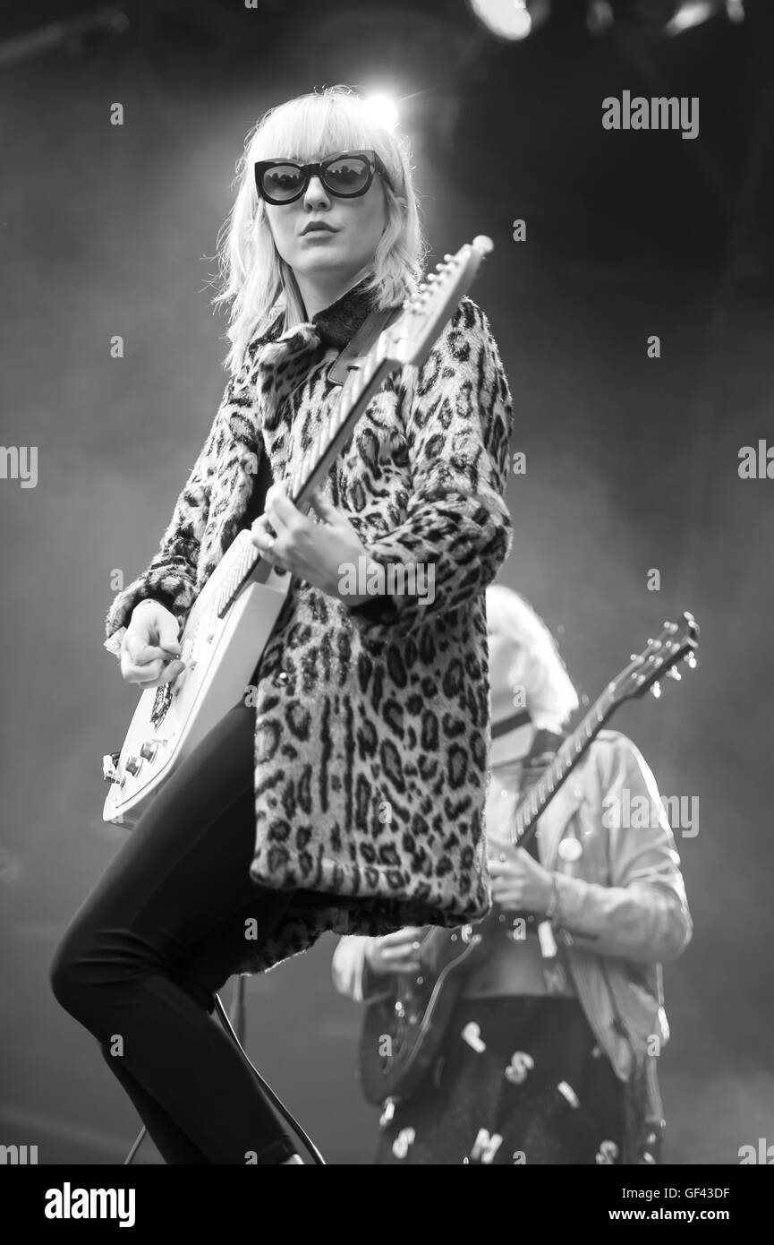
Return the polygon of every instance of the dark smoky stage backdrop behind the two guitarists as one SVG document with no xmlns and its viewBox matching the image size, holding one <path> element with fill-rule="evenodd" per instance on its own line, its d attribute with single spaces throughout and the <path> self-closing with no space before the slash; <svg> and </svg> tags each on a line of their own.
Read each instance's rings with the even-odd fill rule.
<svg viewBox="0 0 774 1245">
<path fill-rule="evenodd" d="M 32 2 L 0 19 L 0 433 L 39 447 L 37 488 L 0 481 L 0 1140 L 37 1144 L 41 1163 L 119 1163 L 139 1128 L 47 984 L 124 833 L 101 818 L 101 757 L 136 698 L 101 647 L 110 574 L 147 565 L 225 383 L 207 281 L 244 136 L 336 82 L 402 101 L 434 256 L 495 242 L 473 296 L 528 461 L 503 581 L 591 697 L 664 619 L 701 625 L 698 669 L 613 723 L 664 796 L 699 798 L 698 835 L 677 830 L 696 929 L 666 970 L 664 1157 L 733 1164 L 774 1140 L 774 481 L 738 476 L 742 446 L 774 443 L 774 6 L 673 39 L 660 26 L 678 4 L 613 7 L 594 37 L 584 4 L 557 2 L 520 44 L 462 0 L 169 0 L 97 21 L 93 4 Z M 602 129 L 602 98 L 623 90 L 698 96 L 698 138 Z M 368 1163 L 360 1010 L 332 991 L 332 950 L 248 981 L 248 1050 L 329 1162 Z M 158 1162 L 149 1142 L 138 1160 Z"/>
</svg>

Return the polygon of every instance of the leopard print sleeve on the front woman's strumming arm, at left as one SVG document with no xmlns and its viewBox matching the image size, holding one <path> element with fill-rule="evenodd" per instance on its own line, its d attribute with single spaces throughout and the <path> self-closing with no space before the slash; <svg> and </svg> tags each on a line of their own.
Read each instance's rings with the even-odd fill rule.
<svg viewBox="0 0 774 1245">
<path fill-rule="evenodd" d="M 108 652 L 118 654 L 132 610 L 147 598 L 166 605 L 178 619 L 180 630 L 185 625 L 197 598 L 197 561 L 209 515 L 212 478 L 228 431 L 223 415 L 234 400 L 235 385 L 231 377 L 225 386 L 218 413 L 174 503 L 158 552 L 147 569 L 113 598 L 105 619 L 107 639 L 103 646 Z"/>
</svg>

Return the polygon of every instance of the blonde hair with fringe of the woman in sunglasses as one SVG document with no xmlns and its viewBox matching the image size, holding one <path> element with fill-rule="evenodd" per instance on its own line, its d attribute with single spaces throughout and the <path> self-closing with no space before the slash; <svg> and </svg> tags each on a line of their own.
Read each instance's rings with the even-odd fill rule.
<svg viewBox="0 0 774 1245">
<path fill-rule="evenodd" d="M 387 228 L 373 256 L 365 289 L 377 308 L 394 306 L 411 296 L 422 278 L 426 244 L 411 176 L 411 149 L 404 136 L 378 123 L 367 103 L 350 87 L 333 86 L 280 103 L 260 117 L 245 138 L 236 163 L 236 198 L 218 234 L 219 290 L 213 304 L 230 304 L 231 342 L 224 366 L 235 375 L 250 340 L 265 332 L 285 311 L 285 329 L 304 320 L 304 304 L 291 268 L 274 245 L 266 207 L 255 189 L 253 166 L 286 156 L 309 163 L 335 151 L 372 149 L 387 169 L 382 179 Z"/>
</svg>

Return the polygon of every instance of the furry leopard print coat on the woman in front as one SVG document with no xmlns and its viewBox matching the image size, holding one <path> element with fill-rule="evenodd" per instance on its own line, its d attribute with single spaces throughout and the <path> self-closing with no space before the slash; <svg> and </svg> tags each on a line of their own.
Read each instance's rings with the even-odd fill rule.
<svg viewBox="0 0 774 1245">
<path fill-rule="evenodd" d="M 108 610 L 111 651 L 146 596 L 182 629 L 239 530 L 261 453 L 275 479 L 297 467 L 341 392 L 327 378 L 343 344 L 331 325 L 343 322 L 346 340 L 367 310 L 350 295 L 248 347 L 158 553 Z M 245 941 L 234 972 L 264 971 L 326 930 L 376 935 L 488 913 L 484 590 L 511 544 L 510 431 L 497 344 L 464 298 L 424 365 L 383 382 L 331 468 L 326 496 L 370 557 L 432 565 L 434 599 L 396 596 L 375 615 L 291 581 L 258 669 L 250 876 L 295 894 L 269 939 Z"/>
</svg>

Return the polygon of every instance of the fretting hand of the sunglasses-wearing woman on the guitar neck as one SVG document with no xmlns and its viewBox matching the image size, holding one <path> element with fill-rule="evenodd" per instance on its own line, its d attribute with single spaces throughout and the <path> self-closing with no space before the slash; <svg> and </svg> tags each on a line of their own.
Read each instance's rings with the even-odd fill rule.
<svg viewBox="0 0 774 1245">
<path fill-rule="evenodd" d="M 264 513 L 250 528 L 253 544 L 273 566 L 285 568 L 300 579 L 309 580 L 329 596 L 347 605 L 361 605 L 370 596 L 353 596 L 340 591 L 342 565 L 357 568 L 358 558 L 368 552 L 346 514 L 337 510 L 321 489 L 312 493 L 312 508 L 325 523 L 312 523 L 292 504 L 284 481 L 266 492 Z M 276 533 L 271 535 L 269 529 Z"/>
</svg>

